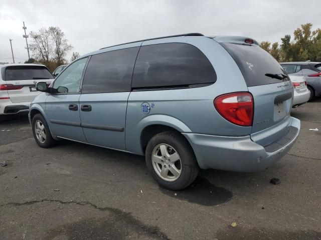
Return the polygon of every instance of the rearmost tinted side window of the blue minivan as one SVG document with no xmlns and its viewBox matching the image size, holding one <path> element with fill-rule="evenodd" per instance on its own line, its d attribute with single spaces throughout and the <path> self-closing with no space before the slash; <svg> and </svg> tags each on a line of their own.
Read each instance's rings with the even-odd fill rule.
<svg viewBox="0 0 321 240">
<path fill-rule="evenodd" d="M 162 43 L 140 47 L 132 87 L 164 87 L 213 83 L 216 73 L 197 47 Z"/>
</svg>

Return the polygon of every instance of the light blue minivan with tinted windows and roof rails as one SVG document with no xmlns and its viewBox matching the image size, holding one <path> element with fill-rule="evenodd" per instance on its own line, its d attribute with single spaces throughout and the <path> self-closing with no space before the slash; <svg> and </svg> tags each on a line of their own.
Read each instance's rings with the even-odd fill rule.
<svg viewBox="0 0 321 240">
<path fill-rule="evenodd" d="M 300 129 L 288 75 L 242 36 L 189 33 L 101 48 L 37 89 L 29 118 L 39 146 L 64 138 L 145 155 L 169 189 L 191 184 L 199 168 L 265 169 Z"/>
</svg>

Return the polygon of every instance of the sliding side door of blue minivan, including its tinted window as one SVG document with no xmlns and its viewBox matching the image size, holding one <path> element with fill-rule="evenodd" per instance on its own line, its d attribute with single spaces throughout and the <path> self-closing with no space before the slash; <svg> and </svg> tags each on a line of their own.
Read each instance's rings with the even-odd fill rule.
<svg viewBox="0 0 321 240">
<path fill-rule="evenodd" d="M 133 44 L 131 44 L 133 45 Z M 79 99 L 88 143 L 124 150 L 127 100 L 140 42 L 92 55 Z"/>
</svg>

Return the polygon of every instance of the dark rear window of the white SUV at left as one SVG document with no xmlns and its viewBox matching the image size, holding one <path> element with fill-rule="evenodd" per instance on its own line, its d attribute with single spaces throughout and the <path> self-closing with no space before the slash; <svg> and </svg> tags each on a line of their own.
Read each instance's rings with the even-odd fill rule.
<svg viewBox="0 0 321 240">
<path fill-rule="evenodd" d="M 7 66 L 5 75 L 7 81 L 55 78 L 45 66 Z"/>
</svg>

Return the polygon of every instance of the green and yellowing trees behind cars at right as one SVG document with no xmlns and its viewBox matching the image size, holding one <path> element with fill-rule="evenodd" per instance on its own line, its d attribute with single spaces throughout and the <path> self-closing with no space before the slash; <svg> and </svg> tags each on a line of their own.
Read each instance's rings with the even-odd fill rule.
<svg viewBox="0 0 321 240">
<path fill-rule="evenodd" d="M 281 44 L 262 41 L 260 47 L 278 61 L 321 61 L 321 29 L 312 30 L 312 23 L 302 24 L 291 35 L 281 37 Z"/>
</svg>

